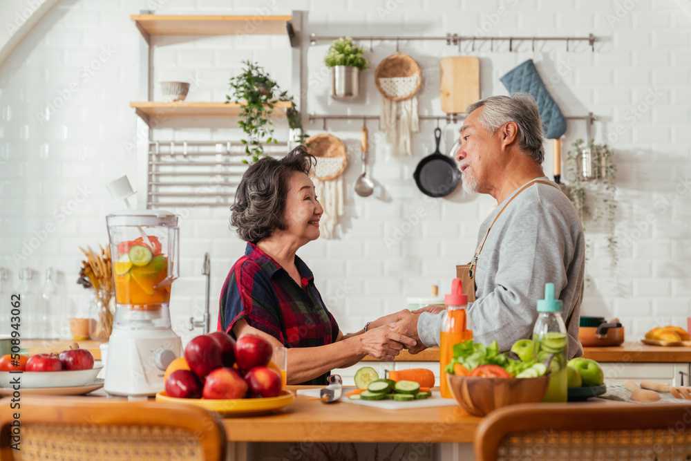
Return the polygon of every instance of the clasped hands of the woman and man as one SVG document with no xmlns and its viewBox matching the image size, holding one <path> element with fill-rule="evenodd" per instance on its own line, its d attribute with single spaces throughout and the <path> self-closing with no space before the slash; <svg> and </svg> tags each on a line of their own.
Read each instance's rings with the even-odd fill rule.
<svg viewBox="0 0 691 461">
<path fill-rule="evenodd" d="M 444 310 L 438 305 L 428 305 L 425 308 L 408 309 L 389 314 L 370 323 L 367 332 L 360 337 L 362 352 L 375 359 L 390 361 L 399 352 L 408 349 L 411 354 L 425 350 L 417 334 L 417 319 L 422 312 L 437 314 Z"/>
</svg>

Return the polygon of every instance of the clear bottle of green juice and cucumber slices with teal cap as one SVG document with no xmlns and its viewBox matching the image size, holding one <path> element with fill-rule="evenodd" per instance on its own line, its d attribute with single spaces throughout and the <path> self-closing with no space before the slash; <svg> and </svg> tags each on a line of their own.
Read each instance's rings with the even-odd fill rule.
<svg viewBox="0 0 691 461">
<path fill-rule="evenodd" d="M 533 328 L 533 359 L 549 362 L 549 388 L 542 402 L 566 402 L 567 330 L 562 319 L 562 301 L 554 299 L 554 284 L 545 284 L 545 299 L 538 300 L 538 321 Z"/>
</svg>

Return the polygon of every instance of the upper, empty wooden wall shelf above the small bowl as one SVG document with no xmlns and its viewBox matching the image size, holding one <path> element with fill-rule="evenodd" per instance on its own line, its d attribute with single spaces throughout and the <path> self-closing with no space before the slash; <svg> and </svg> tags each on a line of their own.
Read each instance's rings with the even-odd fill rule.
<svg viewBox="0 0 691 461">
<path fill-rule="evenodd" d="M 131 15 L 149 35 L 284 35 L 291 16 Z"/>
</svg>

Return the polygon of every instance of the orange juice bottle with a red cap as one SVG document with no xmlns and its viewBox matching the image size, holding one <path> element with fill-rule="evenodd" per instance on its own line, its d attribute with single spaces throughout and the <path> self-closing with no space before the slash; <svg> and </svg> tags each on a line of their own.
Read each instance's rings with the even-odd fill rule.
<svg viewBox="0 0 691 461">
<path fill-rule="evenodd" d="M 444 323 L 442 323 L 442 332 L 439 335 L 439 386 L 442 391 L 442 397 L 451 399 L 453 395 L 451 395 L 451 391 L 448 389 L 444 368 L 453 359 L 453 346 L 461 341 L 473 338 L 473 332 L 468 329 L 469 325 L 466 317 L 468 297 L 463 294 L 461 279 L 453 279 L 451 282 L 451 294 L 447 294 L 444 297 L 444 304 L 446 305 L 446 314 Z"/>
</svg>

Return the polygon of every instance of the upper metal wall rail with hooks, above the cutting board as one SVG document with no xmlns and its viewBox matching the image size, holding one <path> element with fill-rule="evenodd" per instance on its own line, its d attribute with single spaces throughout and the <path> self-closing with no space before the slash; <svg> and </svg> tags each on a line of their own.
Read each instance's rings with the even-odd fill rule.
<svg viewBox="0 0 691 461">
<path fill-rule="evenodd" d="M 336 36 L 327 36 L 327 35 L 316 35 L 316 34 L 310 34 L 310 45 L 316 45 L 317 41 L 333 41 L 343 38 L 343 36 L 336 37 Z M 473 43 L 473 50 L 475 50 L 475 41 L 490 41 L 491 44 L 491 50 L 494 50 L 494 42 L 495 41 L 509 41 L 509 51 L 513 51 L 513 41 L 531 41 L 532 46 L 533 46 L 533 51 L 535 50 L 535 42 L 536 41 L 565 41 L 566 42 L 566 50 L 569 50 L 569 41 L 587 41 L 588 44 L 590 45 L 590 48 L 592 49 L 593 53 L 595 53 L 595 42 L 598 41 L 597 37 L 593 34 L 589 34 L 587 37 L 500 37 L 500 36 L 494 36 L 494 37 L 474 37 L 473 35 L 457 35 L 457 34 L 446 34 L 445 37 L 424 37 L 424 36 L 418 36 L 418 37 L 385 37 L 385 36 L 379 36 L 379 35 L 365 35 L 365 36 L 360 36 L 360 37 L 350 37 L 354 41 L 369 41 L 370 42 L 370 51 L 372 50 L 372 41 L 374 40 L 386 40 L 386 41 L 395 41 L 396 42 L 396 51 L 398 51 L 399 48 L 399 41 L 410 41 L 410 40 L 421 40 L 421 41 L 446 41 L 447 45 L 458 45 L 459 48 L 461 46 L 461 43 L 463 41 L 471 41 Z"/>
</svg>

